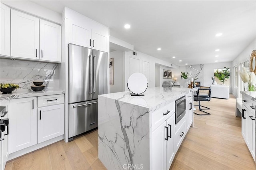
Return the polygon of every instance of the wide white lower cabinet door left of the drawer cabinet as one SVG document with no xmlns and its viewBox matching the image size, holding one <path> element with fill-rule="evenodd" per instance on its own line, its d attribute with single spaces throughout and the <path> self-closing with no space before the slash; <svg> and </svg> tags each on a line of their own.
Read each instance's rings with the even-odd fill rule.
<svg viewBox="0 0 256 170">
<path fill-rule="evenodd" d="M 37 143 L 37 98 L 10 100 L 9 153 Z"/>
</svg>

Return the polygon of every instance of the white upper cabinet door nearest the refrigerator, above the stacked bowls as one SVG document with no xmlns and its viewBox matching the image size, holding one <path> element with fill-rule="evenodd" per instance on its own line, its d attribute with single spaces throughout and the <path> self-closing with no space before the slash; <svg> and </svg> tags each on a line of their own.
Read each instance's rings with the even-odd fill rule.
<svg viewBox="0 0 256 170">
<path fill-rule="evenodd" d="M 40 19 L 40 59 L 61 61 L 60 25 Z"/>
</svg>

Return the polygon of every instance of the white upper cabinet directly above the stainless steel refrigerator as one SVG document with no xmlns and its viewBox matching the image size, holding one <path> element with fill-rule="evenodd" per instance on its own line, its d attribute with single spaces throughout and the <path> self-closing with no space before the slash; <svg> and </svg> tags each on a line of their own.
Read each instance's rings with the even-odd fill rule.
<svg viewBox="0 0 256 170">
<path fill-rule="evenodd" d="M 68 18 L 68 42 L 109 52 L 109 28 L 86 16 L 65 8 Z"/>
</svg>

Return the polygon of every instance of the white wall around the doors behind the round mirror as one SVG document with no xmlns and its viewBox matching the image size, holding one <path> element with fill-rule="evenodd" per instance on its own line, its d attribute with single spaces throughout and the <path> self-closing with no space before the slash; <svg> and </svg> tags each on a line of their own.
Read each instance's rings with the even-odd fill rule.
<svg viewBox="0 0 256 170">
<path fill-rule="evenodd" d="M 158 65 L 166 65 L 167 67 L 178 68 L 177 65 L 171 64 L 171 63 L 163 61 L 161 59 L 152 57 L 150 55 L 147 55 L 147 54 L 144 54 L 144 53 L 141 53 L 141 52 L 138 52 L 138 51 L 135 51 L 135 52 L 137 52 L 138 55 L 133 55 L 132 51 L 124 52 L 124 63 L 125 63 L 125 65 L 124 65 L 124 67 L 125 67 L 124 81 L 125 81 L 125 84 L 127 83 L 128 78 L 129 78 L 129 57 L 133 57 L 133 58 L 136 58 L 136 59 L 140 60 L 140 72 L 141 73 L 143 71 L 143 69 L 142 69 L 143 68 L 143 66 L 142 66 L 143 61 L 149 62 L 149 81 L 148 81 L 149 86 L 148 86 L 148 88 L 155 87 L 155 85 L 156 85 L 156 83 L 155 83 L 156 63 Z M 128 91 L 128 88 L 126 86 L 125 86 L 125 90 Z"/>
</svg>

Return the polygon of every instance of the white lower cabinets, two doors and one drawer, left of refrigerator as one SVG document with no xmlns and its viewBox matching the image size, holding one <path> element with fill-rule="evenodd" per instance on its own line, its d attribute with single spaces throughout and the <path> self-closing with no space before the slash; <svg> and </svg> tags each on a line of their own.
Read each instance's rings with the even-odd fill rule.
<svg viewBox="0 0 256 170">
<path fill-rule="evenodd" d="M 64 134 L 63 94 L 11 99 L 9 111 L 9 153 Z"/>
</svg>

